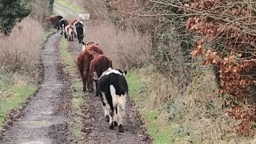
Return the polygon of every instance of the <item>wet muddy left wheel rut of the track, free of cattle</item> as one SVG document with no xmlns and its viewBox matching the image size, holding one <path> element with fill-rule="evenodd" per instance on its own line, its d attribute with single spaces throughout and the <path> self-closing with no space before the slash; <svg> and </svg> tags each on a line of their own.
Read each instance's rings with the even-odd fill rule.
<svg viewBox="0 0 256 144">
<path fill-rule="evenodd" d="M 30 99 L 22 116 L 3 133 L 2 143 L 66 143 L 68 118 L 60 109 L 67 101 L 62 65 L 58 58 L 60 34 L 52 35 L 42 52 L 44 78 L 38 93 Z"/>
</svg>

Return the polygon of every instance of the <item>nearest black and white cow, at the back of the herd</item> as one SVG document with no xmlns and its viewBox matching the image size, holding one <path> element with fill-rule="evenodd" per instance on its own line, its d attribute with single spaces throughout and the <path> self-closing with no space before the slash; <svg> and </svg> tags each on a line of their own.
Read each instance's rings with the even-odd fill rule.
<svg viewBox="0 0 256 144">
<path fill-rule="evenodd" d="M 96 89 L 102 100 L 104 116 L 110 122 L 109 128 L 114 130 L 114 126 L 118 126 L 118 132 L 124 132 L 123 118 L 128 97 L 128 85 L 124 74 L 126 71 L 109 68 L 98 78 Z"/>
</svg>

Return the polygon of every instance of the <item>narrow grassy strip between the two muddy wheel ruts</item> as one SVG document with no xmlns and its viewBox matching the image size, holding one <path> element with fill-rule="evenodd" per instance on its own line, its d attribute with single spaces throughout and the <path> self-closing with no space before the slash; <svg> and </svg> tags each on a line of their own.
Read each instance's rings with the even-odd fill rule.
<svg viewBox="0 0 256 144">
<path fill-rule="evenodd" d="M 60 41 L 60 56 L 64 63 L 64 72 L 69 74 L 72 89 L 72 103 L 71 108 L 76 115 L 74 122 L 70 126 L 69 130 L 74 139 L 82 137 L 82 105 L 85 102 L 84 93 L 82 93 L 82 85 L 79 82 L 78 74 L 76 74 L 77 68 L 74 64 L 72 55 L 69 51 L 69 43 L 65 38 Z"/>
</svg>

